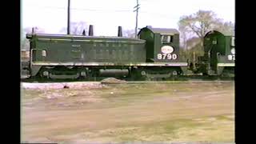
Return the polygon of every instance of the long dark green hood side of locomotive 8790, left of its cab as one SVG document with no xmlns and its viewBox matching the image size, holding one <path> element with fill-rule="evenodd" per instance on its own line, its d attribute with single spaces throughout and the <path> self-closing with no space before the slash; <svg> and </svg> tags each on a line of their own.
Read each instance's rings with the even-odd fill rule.
<svg viewBox="0 0 256 144">
<path fill-rule="evenodd" d="M 34 62 L 146 62 L 145 42 L 128 38 L 38 38 Z"/>
</svg>

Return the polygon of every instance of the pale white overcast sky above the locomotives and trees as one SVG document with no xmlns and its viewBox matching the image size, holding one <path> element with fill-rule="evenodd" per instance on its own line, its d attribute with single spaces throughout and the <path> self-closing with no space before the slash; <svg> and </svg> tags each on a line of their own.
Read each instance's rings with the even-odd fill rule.
<svg viewBox="0 0 256 144">
<path fill-rule="evenodd" d="M 234 22 L 234 0 L 138 0 L 138 28 L 177 28 L 183 15 L 212 10 L 218 18 Z M 22 0 L 22 29 L 37 26 L 49 34 L 61 34 L 67 26 L 68 0 Z M 70 21 L 94 25 L 94 35 L 113 36 L 134 30 L 136 0 L 70 0 Z"/>
</svg>

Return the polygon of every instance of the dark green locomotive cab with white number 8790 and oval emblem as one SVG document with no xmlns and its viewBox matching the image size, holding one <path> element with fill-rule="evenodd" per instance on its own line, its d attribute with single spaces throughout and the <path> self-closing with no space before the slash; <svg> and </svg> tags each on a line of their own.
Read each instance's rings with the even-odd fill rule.
<svg viewBox="0 0 256 144">
<path fill-rule="evenodd" d="M 175 29 L 146 26 L 138 33 L 146 40 L 146 62 L 178 62 L 179 33 Z"/>
</svg>

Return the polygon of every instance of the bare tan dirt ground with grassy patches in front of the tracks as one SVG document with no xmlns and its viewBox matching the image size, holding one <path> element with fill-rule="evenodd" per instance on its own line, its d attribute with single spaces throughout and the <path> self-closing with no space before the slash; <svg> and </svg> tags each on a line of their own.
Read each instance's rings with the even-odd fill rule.
<svg viewBox="0 0 256 144">
<path fill-rule="evenodd" d="M 234 82 L 22 83 L 21 90 L 22 142 L 234 142 Z"/>
</svg>

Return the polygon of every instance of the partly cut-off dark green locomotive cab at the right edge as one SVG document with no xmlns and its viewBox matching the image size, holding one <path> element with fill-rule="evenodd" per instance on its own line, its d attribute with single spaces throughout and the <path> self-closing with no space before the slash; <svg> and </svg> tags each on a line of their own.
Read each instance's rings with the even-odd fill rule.
<svg viewBox="0 0 256 144">
<path fill-rule="evenodd" d="M 223 74 L 223 70 L 234 71 L 234 34 L 222 34 L 216 30 L 204 37 L 204 56 L 200 59 L 209 75 Z"/>
</svg>

